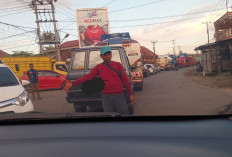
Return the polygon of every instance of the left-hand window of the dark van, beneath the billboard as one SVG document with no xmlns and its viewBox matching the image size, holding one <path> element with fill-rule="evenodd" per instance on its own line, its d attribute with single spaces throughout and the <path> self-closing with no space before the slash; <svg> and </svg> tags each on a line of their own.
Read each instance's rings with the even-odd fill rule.
<svg viewBox="0 0 232 157">
<path fill-rule="evenodd" d="M 85 52 L 76 52 L 72 64 L 72 70 L 85 68 Z"/>
</svg>

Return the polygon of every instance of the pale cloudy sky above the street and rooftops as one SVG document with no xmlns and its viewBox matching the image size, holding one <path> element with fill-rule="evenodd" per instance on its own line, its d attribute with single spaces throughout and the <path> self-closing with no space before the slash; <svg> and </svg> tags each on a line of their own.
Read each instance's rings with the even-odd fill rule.
<svg viewBox="0 0 232 157">
<path fill-rule="evenodd" d="M 39 53 L 34 10 L 31 0 L 0 0 L 0 50 Z M 77 40 L 76 9 L 107 7 L 110 33 L 129 32 L 133 39 L 159 55 L 196 53 L 194 48 L 207 43 L 206 24 L 209 23 L 210 42 L 215 42 L 213 23 L 226 13 L 226 0 L 57 0 L 55 18 L 60 38 Z M 232 1 L 228 2 L 231 10 Z M 50 19 L 39 14 L 40 19 Z M 41 31 L 53 30 L 52 23 L 42 24 Z"/>
</svg>

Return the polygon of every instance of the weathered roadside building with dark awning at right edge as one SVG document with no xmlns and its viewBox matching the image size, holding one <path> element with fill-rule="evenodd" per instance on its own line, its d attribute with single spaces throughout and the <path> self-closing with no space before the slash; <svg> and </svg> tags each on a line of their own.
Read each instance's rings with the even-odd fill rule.
<svg viewBox="0 0 232 157">
<path fill-rule="evenodd" d="M 225 13 L 214 22 L 215 42 L 195 48 L 202 52 L 203 70 L 232 72 L 232 12 Z"/>
</svg>

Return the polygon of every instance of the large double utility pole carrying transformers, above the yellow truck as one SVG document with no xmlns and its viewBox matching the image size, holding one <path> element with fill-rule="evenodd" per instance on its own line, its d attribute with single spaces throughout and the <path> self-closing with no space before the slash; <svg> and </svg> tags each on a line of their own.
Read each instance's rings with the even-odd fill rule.
<svg viewBox="0 0 232 157">
<path fill-rule="evenodd" d="M 60 43 L 59 34 L 56 27 L 56 19 L 55 19 L 55 7 L 53 5 L 53 1 L 56 0 L 32 0 L 31 6 L 35 10 L 36 14 L 36 23 L 37 23 L 37 30 L 38 30 L 38 37 L 39 37 L 39 45 L 40 45 L 40 53 L 43 53 L 43 45 L 55 45 L 56 50 L 56 59 L 60 61 L 60 50 L 58 48 Z M 52 14 L 52 18 L 50 20 L 46 19 L 39 19 L 39 15 L 43 14 L 49 15 Z M 47 17 L 47 16 L 46 16 Z M 46 33 L 41 35 L 40 31 L 40 23 L 53 23 L 54 29 L 53 32 L 47 30 Z M 43 27 L 42 27 L 43 28 Z"/>
</svg>

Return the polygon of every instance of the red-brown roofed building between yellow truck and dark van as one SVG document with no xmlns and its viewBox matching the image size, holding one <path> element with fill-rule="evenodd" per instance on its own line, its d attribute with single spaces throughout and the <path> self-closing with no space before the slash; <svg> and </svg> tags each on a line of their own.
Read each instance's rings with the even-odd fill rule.
<svg viewBox="0 0 232 157">
<path fill-rule="evenodd" d="M 63 44 L 60 44 L 59 49 L 60 49 L 61 61 L 69 63 L 70 58 L 72 56 L 72 52 L 76 48 L 79 48 L 79 41 L 78 40 L 67 41 L 67 42 L 64 42 Z M 45 53 L 52 59 L 56 58 L 56 49 L 55 48 L 53 48 L 51 50 L 46 50 Z"/>
</svg>

